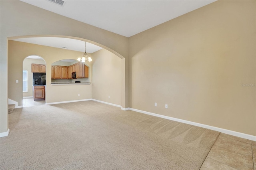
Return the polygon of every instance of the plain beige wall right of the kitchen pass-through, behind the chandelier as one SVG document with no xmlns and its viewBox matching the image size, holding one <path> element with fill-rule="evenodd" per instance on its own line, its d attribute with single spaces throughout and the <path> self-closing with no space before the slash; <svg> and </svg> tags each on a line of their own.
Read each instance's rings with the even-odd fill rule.
<svg viewBox="0 0 256 170">
<path fill-rule="evenodd" d="M 121 105 L 122 59 L 106 49 L 92 53 L 92 59 L 92 99 Z"/>
</svg>

